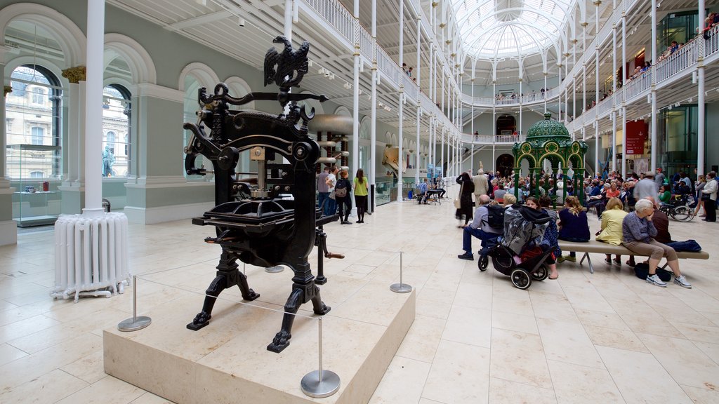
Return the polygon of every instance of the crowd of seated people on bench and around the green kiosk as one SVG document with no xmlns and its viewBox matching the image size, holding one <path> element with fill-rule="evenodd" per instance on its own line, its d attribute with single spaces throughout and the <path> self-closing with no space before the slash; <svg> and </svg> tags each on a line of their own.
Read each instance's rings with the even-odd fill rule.
<svg viewBox="0 0 719 404">
<path fill-rule="evenodd" d="M 661 173 L 661 169 L 659 173 Z M 463 173 L 458 178 L 458 182 L 461 182 L 460 179 L 466 180 L 468 175 L 465 174 L 467 173 Z M 615 172 L 605 173 L 605 175 L 606 178 L 604 179 L 595 178 L 585 181 L 587 195 L 585 201 L 580 201 L 577 196 L 573 195 L 573 190 L 571 189 L 568 189 L 569 192 L 566 193 L 567 198 L 558 199 L 559 196 L 563 197 L 565 195 L 564 187 L 559 186 L 563 183 L 560 180 L 561 173 L 557 175 L 558 178 L 544 175 L 539 180 L 539 184 L 536 184 L 534 178 L 521 178 L 518 182 L 519 189 L 517 191 L 514 190 L 514 184 L 510 176 L 492 178 L 491 173 L 482 175 L 487 178 L 490 186 L 486 192 L 480 190 L 480 193 L 475 193 L 477 208 L 469 216 L 471 223 L 466 221 L 464 226 L 461 226 L 464 231 L 462 237 L 464 253 L 458 255 L 459 259 L 474 260 L 473 237 L 482 240 L 482 247 L 484 247 L 485 242 L 496 240 L 503 235 L 503 228 L 490 225 L 490 211 L 493 209 L 490 208 L 491 206 L 510 208 L 510 206 L 520 203 L 531 208 L 543 210 L 551 217 L 551 224 L 544 233 L 543 247 L 554 249 L 554 254 L 546 261 L 546 265 L 550 271 L 549 279 L 557 279 L 559 277 L 556 265 L 558 262 L 576 262 L 577 260 L 574 252 L 570 252 L 567 256 L 562 255 L 562 251 L 559 249 L 559 240 L 567 242 L 590 241 L 591 234 L 587 219 L 587 208 L 595 207 L 597 216 L 601 219 L 601 230 L 596 234 L 597 240 L 609 244 L 623 245 L 640 257 L 649 257 L 647 261 L 649 276 L 646 282 L 661 287 L 667 286 L 656 275 L 659 261 L 662 257 L 665 257 L 667 265 L 674 273 L 674 283 L 683 288 L 691 288 L 692 285 L 679 270 L 676 252 L 667 245 L 667 243 L 672 242 L 669 234 L 669 219 L 659 209 L 659 198 L 663 194 L 659 193 L 659 185 L 654 182 L 653 173 L 644 173 L 643 175 L 633 173 L 627 180 L 623 180 Z M 705 210 L 709 205 L 714 208 L 716 205 L 719 186 L 715 177 L 715 173 L 707 174 L 707 180 L 703 183 L 705 185 L 697 191 L 704 194 L 705 199 L 709 201 L 709 203 L 705 203 Z M 661 178 L 663 178 L 663 175 Z M 680 192 L 687 192 L 687 189 L 689 189 L 689 192 L 692 192 L 687 185 L 690 183 L 691 181 L 685 173 L 679 173 L 674 189 Z M 700 182 L 697 181 L 697 183 Z M 534 187 L 539 187 L 539 190 L 541 190 L 540 198 L 530 196 L 532 193 L 536 194 L 536 190 L 530 192 Z M 667 188 L 669 188 L 668 185 Z M 519 200 L 515 195 L 519 196 Z M 559 208 L 559 211 L 554 210 L 551 208 L 553 203 L 557 205 L 562 203 L 562 208 Z M 633 206 L 633 211 L 631 212 L 628 212 L 627 210 L 629 209 L 625 208 L 628 203 Z M 712 207 L 710 207 L 711 209 Z M 710 214 L 707 211 L 707 216 L 715 219 L 715 212 Z M 608 264 L 614 262 L 621 265 L 621 257 L 619 256 L 611 260 L 608 255 L 605 261 Z M 636 265 L 633 255 L 630 256 L 626 264 L 631 267 Z"/>
</svg>

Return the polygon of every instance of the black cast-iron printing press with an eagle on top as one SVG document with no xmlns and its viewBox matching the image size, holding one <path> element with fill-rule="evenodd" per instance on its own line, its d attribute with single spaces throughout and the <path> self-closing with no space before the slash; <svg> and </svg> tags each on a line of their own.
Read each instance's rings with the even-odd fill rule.
<svg viewBox="0 0 719 404">
<path fill-rule="evenodd" d="M 320 298 L 317 285 L 326 283 L 322 270 L 324 257 L 342 258 L 327 252 L 326 234 L 322 226 L 337 219 L 336 215 L 321 216 L 316 208 L 316 164 L 334 162 L 319 158 L 319 145 L 307 134 L 307 124 L 314 109 L 307 114 L 297 101 L 325 96 L 293 94 L 290 88 L 298 86 L 307 73 L 309 43 L 303 42 L 293 50 L 285 37 L 273 41 L 285 45 L 277 52 L 270 48 L 265 55 L 265 86 L 276 83 L 279 93 L 249 93 L 234 98 L 227 86 L 219 83 L 214 94 L 205 88 L 199 91 L 198 123 L 186 123 L 192 132 L 185 152 L 185 169 L 188 175 L 204 175 L 203 167 L 195 167 L 197 155 L 212 162 L 215 176 L 216 206 L 193 224 L 216 227 L 217 237 L 205 242 L 219 244 L 222 253 L 217 265 L 217 276 L 206 291 L 202 311 L 187 325 L 198 330 L 209 323 L 216 297 L 222 290 L 239 286 L 244 300 L 260 297 L 247 285 L 247 277 L 238 270 L 237 260 L 259 267 L 286 265 L 294 272 L 292 292 L 285 303 L 282 329 L 267 349 L 281 352 L 290 344 L 290 331 L 298 308 L 312 302 L 316 314 L 325 314 L 329 307 Z M 277 100 L 283 107 L 279 115 L 259 111 L 232 111 L 230 105 L 247 104 L 255 100 Z M 209 135 L 204 128 L 211 129 Z M 257 162 L 257 181 L 239 180 L 236 166 L 239 152 L 249 150 L 250 160 Z M 275 163 L 284 157 L 287 162 Z M 281 159 L 280 159 L 281 160 Z M 269 175 L 268 175 L 269 171 Z M 293 200 L 280 197 L 291 194 Z M 307 257 L 313 246 L 319 247 L 317 277 L 312 275 Z"/>
</svg>

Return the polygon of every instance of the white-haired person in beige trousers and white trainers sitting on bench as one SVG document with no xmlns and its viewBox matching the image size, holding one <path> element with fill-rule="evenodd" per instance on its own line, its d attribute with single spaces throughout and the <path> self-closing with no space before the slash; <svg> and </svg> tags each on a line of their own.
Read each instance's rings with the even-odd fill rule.
<svg viewBox="0 0 719 404">
<path fill-rule="evenodd" d="M 659 265 L 659 260 L 661 260 L 661 257 L 667 257 L 667 264 L 669 264 L 669 267 L 672 268 L 672 272 L 674 272 L 674 283 L 682 286 L 682 288 L 692 288 L 692 285 L 687 282 L 682 272 L 679 271 L 677 252 L 675 252 L 672 247 L 661 244 L 654 239 L 654 237 L 656 237 L 656 228 L 651 221 L 653 216 L 654 203 L 646 199 L 637 201 L 634 206 L 634 211 L 624 216 L 624 220 L 622 221 L 622 244 L 636 255 L 649 256 L 649 276 L 646 277 L 647 283 L 661 286 L 661 288 L 667 288 L 667 284 L 656 275 L 656 267 Z"/>
</svg>

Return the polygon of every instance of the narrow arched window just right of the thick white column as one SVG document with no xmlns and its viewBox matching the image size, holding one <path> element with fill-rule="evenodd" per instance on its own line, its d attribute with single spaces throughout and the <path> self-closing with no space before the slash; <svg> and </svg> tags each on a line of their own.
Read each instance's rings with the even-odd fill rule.
<svg viewBox="0 0 719 404">
<path fill-rule="evenodd" d="M 102 129 L 103 175 L 127 177 L 130 175 L 132 139 L 130 128 L 130 92 L 119 84 L 105 86 L 103 93 Z"/>
</svg>

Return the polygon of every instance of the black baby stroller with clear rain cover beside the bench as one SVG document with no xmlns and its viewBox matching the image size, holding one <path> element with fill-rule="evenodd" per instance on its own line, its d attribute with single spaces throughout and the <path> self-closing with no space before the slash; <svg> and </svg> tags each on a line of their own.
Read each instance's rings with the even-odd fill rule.
<svg viewBox="0 0 719 404">
<path fill-rule="evenodd" d="M 545 248 L 541 242 L 551 218 L 542 211 L 519 205 L 508 208 L 504 217 L 504 234 L 489 256 L 495 270 L 509 275 L 516 288 L 527 289 L 532 280 L 541 281 L 549 276 L 546 260 L 554 248 Z"/>
</svg>

